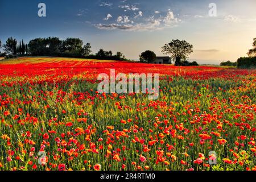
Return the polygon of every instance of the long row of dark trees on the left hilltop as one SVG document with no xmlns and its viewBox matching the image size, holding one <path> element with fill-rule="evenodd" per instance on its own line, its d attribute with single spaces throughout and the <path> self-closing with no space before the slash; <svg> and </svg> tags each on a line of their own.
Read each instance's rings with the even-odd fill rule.
<svg viewBox="0 0 256 182">
<path fill-rule="evenodd" d="M 1 46 L 1 40 L 0 40 Z M 15 38 L 8 38 L 3 45 L 2 56 L 5 55 L 30 55 L 30 56 L 59 56 L 59 57 L 79 57 L 89 59 L 105 60 L 126 60 L 122 52 L 113 54 L 112 51 L 100 49 L 95 55 L 92 54 L 90 43 L 84 44 L 79 38 L 67 38 L 60 40 L 56 37 L 36 38 L 30 40 L 28 44 L 19 42 Z"/>
</svg>

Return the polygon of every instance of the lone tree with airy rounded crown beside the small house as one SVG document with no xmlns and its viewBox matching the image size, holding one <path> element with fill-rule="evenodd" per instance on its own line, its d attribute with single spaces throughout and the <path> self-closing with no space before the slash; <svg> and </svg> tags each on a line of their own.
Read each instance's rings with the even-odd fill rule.
<svg viewBox="0 0 256 182">
<path fill-rule="evenodd" d="M 162 52 L 175 60 L 175 65 L 182 65 L 182 61 L 193 52 L 193 46 L 185 40 L 172 40 L 162 47 Z"/>
</svg>

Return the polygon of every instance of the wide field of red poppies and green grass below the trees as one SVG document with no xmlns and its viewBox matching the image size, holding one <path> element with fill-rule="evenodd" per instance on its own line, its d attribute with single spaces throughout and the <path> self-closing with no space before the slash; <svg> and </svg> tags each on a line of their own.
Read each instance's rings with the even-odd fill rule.
<svg viewBox="0 0 256 182">
<path fill-rule="evenodd" d="M 159 73 L 158 100 L 99 94 L 110 69 Z M 256 170 L 255 69 L 23 57 L 0 73 L 0 171 Z"/>
</svg>

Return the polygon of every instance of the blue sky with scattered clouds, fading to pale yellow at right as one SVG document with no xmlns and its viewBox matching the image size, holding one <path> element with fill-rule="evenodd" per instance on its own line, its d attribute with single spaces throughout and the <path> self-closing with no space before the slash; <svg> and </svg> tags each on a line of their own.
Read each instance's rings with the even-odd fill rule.
<svg viewBox="0 0 256 182">
<path fill-rule="evenodd" d="M 46 17 L 38 4 L 46 4 Z M 209 4 L 217 6 L 209 16 Z M 172 39 L 193 44 L 191 60 L 218 64 L 246 56 L 256 37 L 255 0 L 42 0 L 0 1 L 0 40 L 77 37 L 138 60 L 147 49 L 162 56 Z"/>
</svg>

